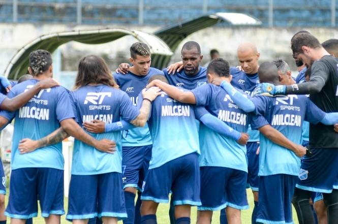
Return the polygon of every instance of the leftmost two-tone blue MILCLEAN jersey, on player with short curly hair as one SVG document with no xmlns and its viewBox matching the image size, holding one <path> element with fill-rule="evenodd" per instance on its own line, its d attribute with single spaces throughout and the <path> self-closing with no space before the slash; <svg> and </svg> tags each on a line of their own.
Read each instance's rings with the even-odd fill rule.
<svg viewBox="0 0 338 224">
<path fill-rule="evenodd" d="M 9 98 L 32 88 L 37 82 L 30 79 L 15 85 L 8 93 Z M 41 139 L 60 127 L 59 122 L 74 118 L 69 92 L 62 86 L 42 89 L 28 103 L 14 112 L 1 111 L 0 115 L 11 121 L 15 118 L 11 154 L 12 170 L 19 168 L 54 168 L 64 169 L 62 142 L 39 148 L 33 152 L 19 154 L 18 144 L 21 139 Z"/>
</svg>

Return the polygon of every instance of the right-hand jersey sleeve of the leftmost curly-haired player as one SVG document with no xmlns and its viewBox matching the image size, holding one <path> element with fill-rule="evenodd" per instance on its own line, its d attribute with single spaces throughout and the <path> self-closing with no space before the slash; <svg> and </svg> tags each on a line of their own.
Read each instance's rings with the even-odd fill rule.
<svg viewBox="0 0 338 224">
<path fill-rule="evenodd" d="M 57 99 L 56 99 L 56 119 L 58 122 L 61 122 L 68 118 L 74 118 L 74 112 L 71 109 L 72 103 L 69 95 L 69 91 L 66 90 L 64 87 L 58 87 L 59 91 L 57 92 Z"/>
</svg>

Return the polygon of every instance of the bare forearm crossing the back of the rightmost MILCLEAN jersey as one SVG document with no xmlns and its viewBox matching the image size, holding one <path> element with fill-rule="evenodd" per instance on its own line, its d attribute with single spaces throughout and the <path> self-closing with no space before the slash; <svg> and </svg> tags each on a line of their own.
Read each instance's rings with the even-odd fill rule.
<svg viewBox="0 0 338 224">
<path fill-rule="evenodd" d="M 293 143 L 270 124 L 259 127 L 258 130 L 271 142 L 292 150 L 298 157 L 305 155 L 306 149 L 303 146 Z"/>
</svg>

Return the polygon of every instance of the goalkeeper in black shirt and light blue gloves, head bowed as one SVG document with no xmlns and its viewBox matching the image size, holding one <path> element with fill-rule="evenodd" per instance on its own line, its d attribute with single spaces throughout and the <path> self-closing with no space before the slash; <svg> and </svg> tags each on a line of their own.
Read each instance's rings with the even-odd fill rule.
<svg viewBox="0 0 338 224">
<path fill-rule="evenodd" d="M 311 34 L 298 34 L 291 43 L 293 54 L 312 67 L 310 82 L 294 85 L 262 84 L 259 92 L 276 94 L 309 94 L 310 99 L 325 112 L 338 111 L 338 59 L 330 55 Z M 338 220 L 338 138 L 333 126 L 310 125 L 310 142 L 314 155 L 304 157 L 297 180 L 293 205 L 299 223 L 315 223 L 309 198 L 312 191 L 323 193 L 328 210 L 328 223 Z"/>
</svg>

